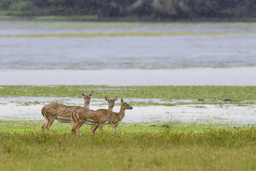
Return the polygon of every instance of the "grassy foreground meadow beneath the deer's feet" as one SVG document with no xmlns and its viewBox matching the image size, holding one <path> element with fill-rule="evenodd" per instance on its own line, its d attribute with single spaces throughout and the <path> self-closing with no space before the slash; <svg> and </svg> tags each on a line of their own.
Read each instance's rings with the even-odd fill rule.
<svg viewBox="0 0 256 171">
<path fill-rule="evenodd" d="M 70 125 L 42 121 L 0 121 L 1 170 L 254 170 L 256 129 L 220 125 L 168 127 L 109 125 L 92 136 L 70 135 Z"/>
</svg>

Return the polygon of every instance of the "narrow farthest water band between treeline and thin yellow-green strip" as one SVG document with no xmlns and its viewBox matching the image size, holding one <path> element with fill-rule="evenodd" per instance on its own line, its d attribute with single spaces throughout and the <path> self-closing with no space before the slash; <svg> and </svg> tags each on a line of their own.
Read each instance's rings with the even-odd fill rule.
<svg viewBox="0 0 256 171">
<path fill-rule="evenodd" d="M 256 23 L 140 23 L 140 22 L 40 22 L 1 21 L 1 35 L 62 34 L 83 32 L 255 32 Z"/>
</svg>

